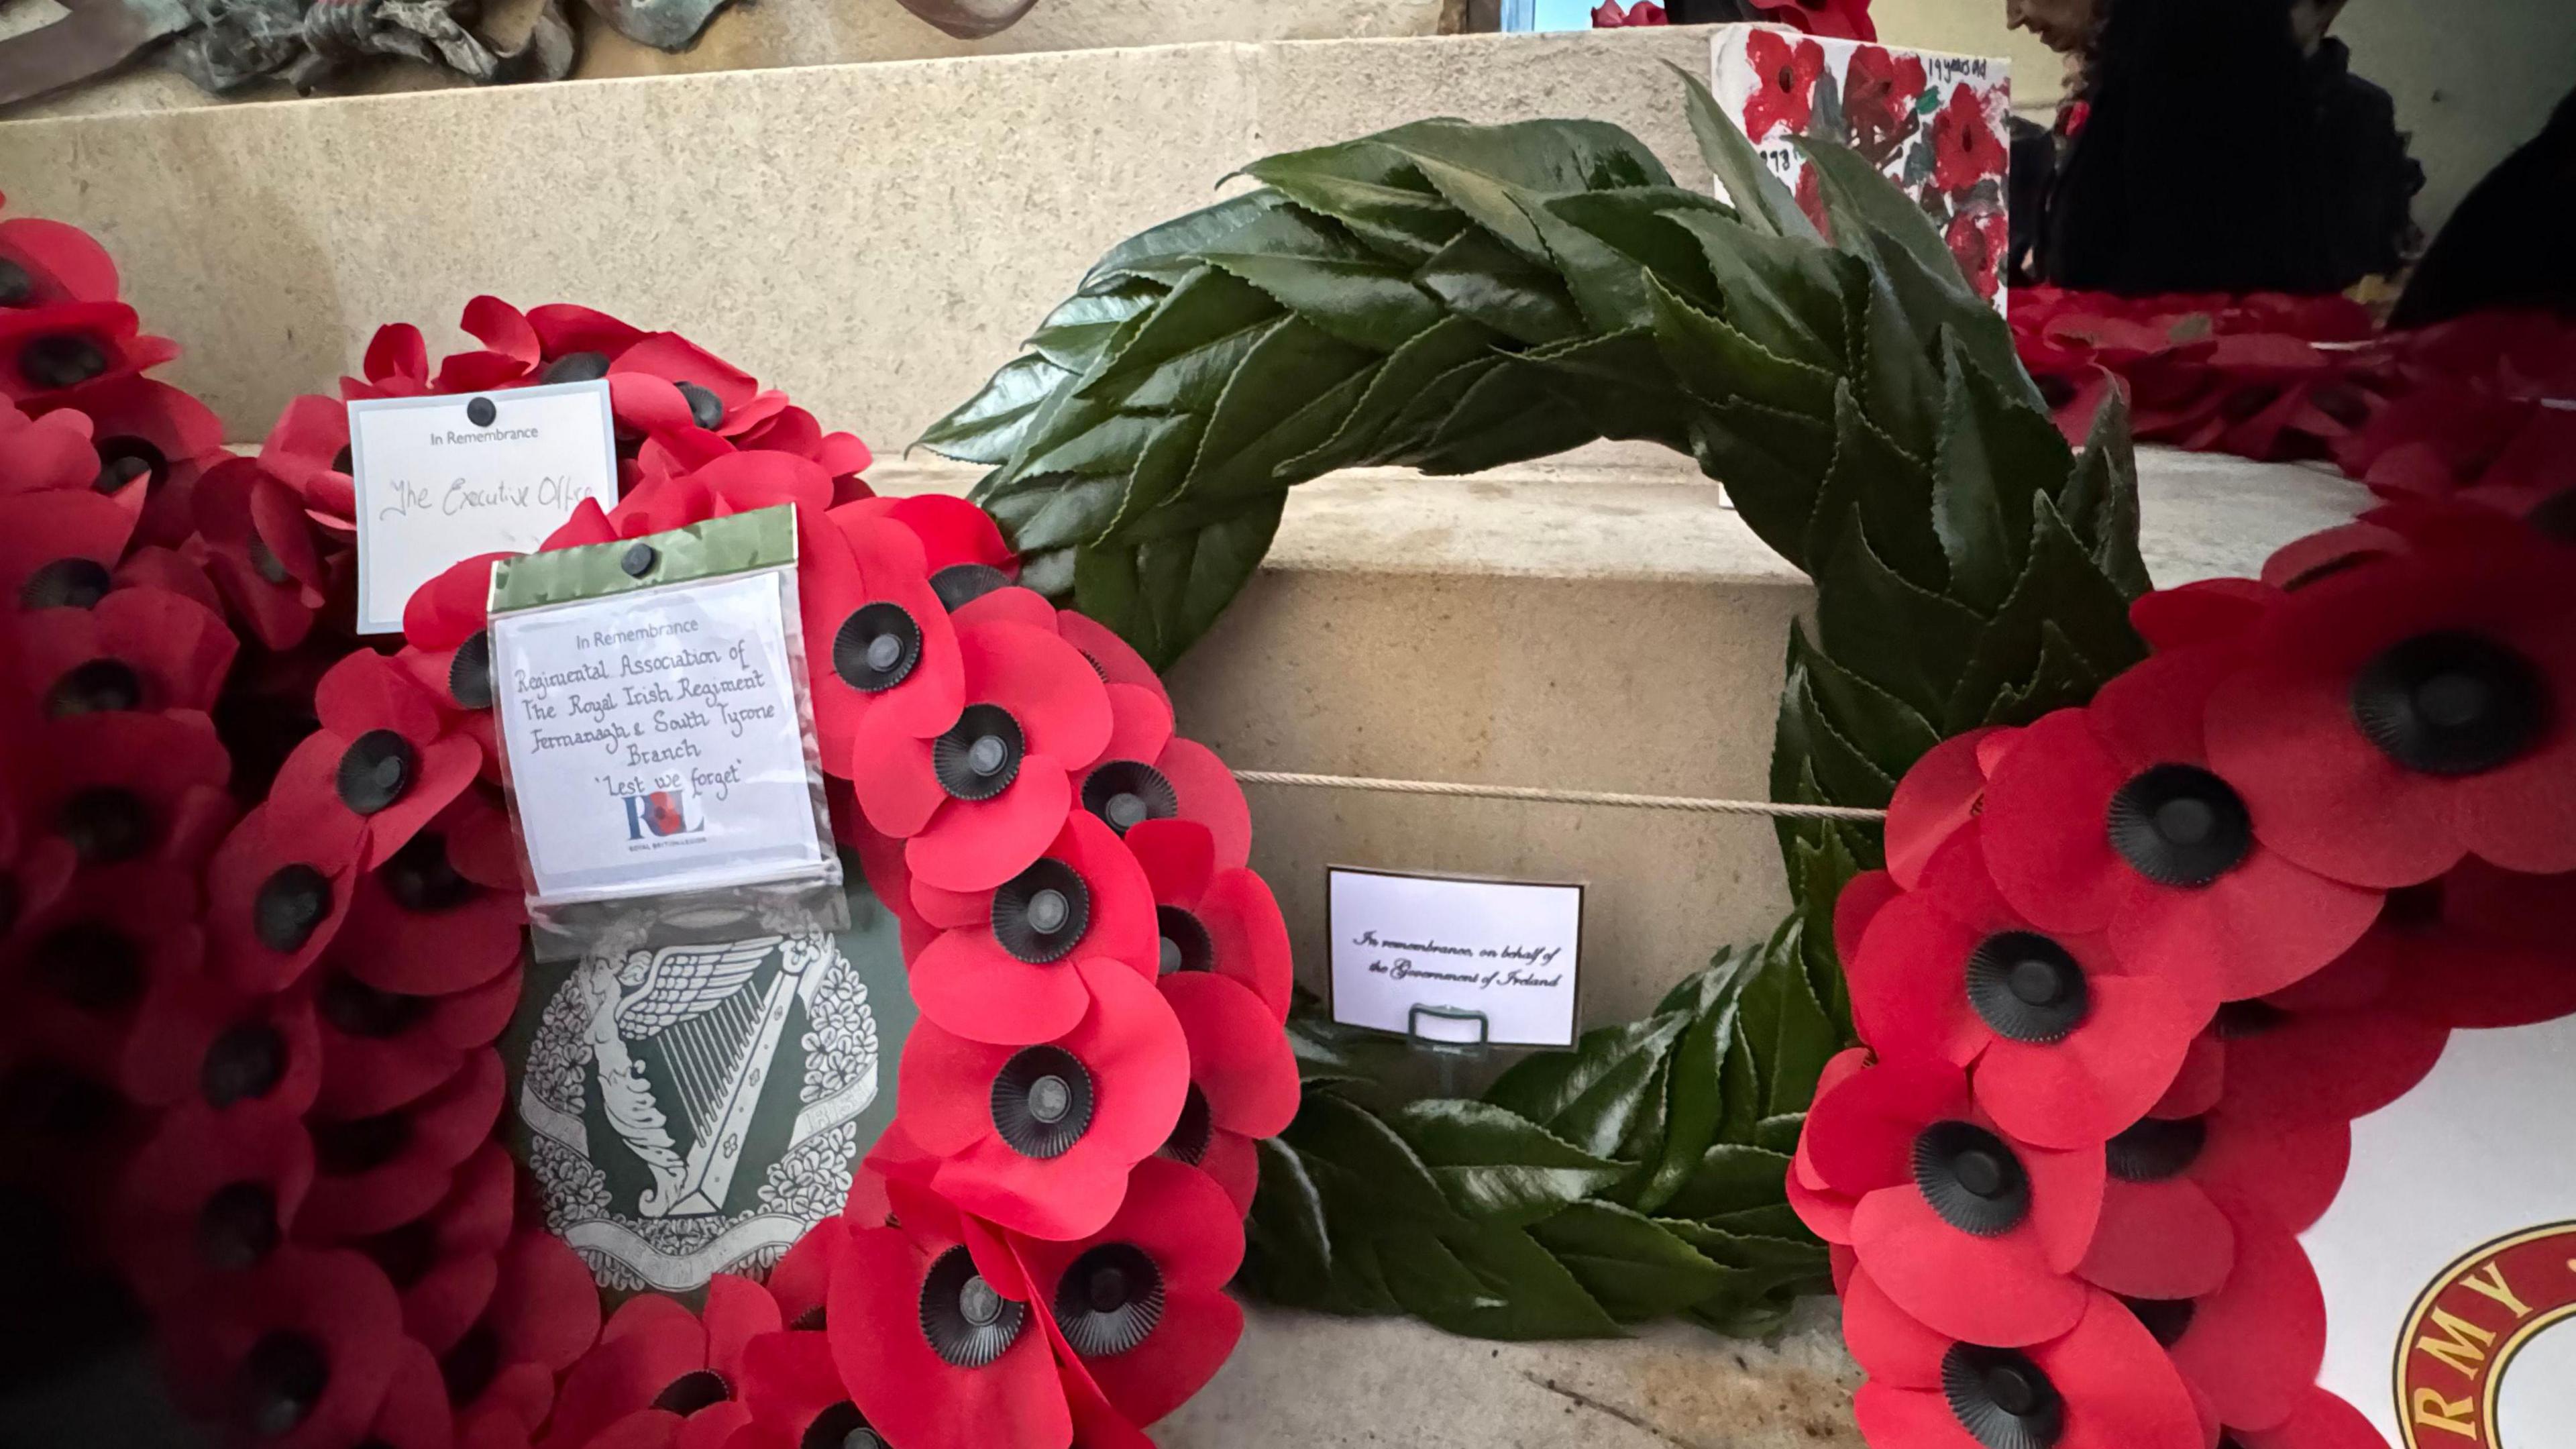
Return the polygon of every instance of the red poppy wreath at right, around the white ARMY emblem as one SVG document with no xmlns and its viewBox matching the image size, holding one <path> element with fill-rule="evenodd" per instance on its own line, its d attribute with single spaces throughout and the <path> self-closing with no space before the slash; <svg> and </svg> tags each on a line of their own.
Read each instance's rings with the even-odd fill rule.
<svg viewBox="0 0 2576 1449">
<path fill-rule="evenodd" d="M 2380 1449 L 2298 1235 L 2452 1031 L 2576 1013 L 2568 554 L 2385 505 L 1906 773 L 1788 1181 L 1870 1444 Z"/>
</svg>

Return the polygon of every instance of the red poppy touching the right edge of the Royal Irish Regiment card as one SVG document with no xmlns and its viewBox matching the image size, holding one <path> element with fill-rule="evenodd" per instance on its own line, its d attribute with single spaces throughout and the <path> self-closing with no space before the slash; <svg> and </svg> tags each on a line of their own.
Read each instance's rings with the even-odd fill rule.
<svg viewBox="0 0 2576 1449">
<path fill-rule="evenodd" d="M 909 529 L 835 508 L 829 526 L 801 531 L 796 572 L 804 608 L 814 732 L 832 773 L 850 773 L 860 719 L 930 737 L 966 706 L 956 624 L 930 588 L 930 562 Z"/>
</svg>

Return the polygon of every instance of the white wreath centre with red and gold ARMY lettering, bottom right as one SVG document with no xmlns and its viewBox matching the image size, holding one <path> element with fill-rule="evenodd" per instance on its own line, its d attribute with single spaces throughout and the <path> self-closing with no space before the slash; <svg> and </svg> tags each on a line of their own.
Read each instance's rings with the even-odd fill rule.
<svg viewBox="0 0 2576 1449">
<path fill-rule="evenodd" d="M 2455 1031 L 2352 1124 L 2300 1243 L 2329 1390 L 2401 1449 L 2561 1449 L 2576 1426 L 2576 1016 Z"/>
</svg>

